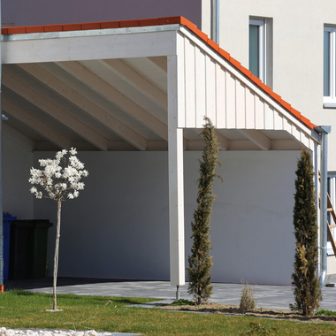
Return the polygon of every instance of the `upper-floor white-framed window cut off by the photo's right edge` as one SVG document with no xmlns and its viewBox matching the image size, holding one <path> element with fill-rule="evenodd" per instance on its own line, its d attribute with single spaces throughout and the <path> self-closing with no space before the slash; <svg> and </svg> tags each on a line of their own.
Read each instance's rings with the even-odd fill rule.
<svg viewBox="0 0 336 336">
<path fill-rule="evenodd" d="M 336 27 L 324 31 L 324 105 L 336 107 Z"/>
</svg>

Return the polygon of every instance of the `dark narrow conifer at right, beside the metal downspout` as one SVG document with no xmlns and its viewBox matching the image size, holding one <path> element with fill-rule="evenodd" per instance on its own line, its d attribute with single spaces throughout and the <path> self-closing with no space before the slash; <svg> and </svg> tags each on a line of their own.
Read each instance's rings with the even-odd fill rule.
<svg viewBox="0 0 336 336">
<path fill-rule="evenodd" d="M 294 256 L 295 304 L 292 310 L 303 316 L 312 315 L 319 307 L 321 289 L 317 279 L 317 204 L 314 190 L 314 172 L 309 151 L 302 149 L 297 164 L 294 203 Z"/>
</svg>

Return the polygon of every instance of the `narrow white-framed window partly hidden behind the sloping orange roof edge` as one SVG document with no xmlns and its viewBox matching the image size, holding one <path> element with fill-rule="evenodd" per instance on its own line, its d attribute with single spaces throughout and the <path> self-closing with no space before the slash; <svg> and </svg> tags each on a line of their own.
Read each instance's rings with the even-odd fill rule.
<svg viewBox="0 0 336 336">
<path fill-rule="evenodd" d="M 249 19 L 249 70 L 271 87 L 272 20 Z"/>
</svg>

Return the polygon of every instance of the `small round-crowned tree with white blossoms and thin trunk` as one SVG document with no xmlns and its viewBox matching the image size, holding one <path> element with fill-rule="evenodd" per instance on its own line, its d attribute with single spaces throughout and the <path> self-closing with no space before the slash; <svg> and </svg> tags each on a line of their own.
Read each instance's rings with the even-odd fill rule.
<svg viewBox="0 0 336 336">
<path fill-rule="evenodd" d="M 84 164 L 76 157 L 76 149 L 71 148 L 69 151 L 63 149 L 57 152 L 55 159 L 40 159 L 39 163 L 43 170 L 30 170 L 31 178 L 29 182 L 33 185 L 41 186 L 46 195 L 57 202 L 57 233 L 54 255 L 54 276 L 53 276 L 53 310 L 57 310 L 56 284 L 57 284 L 57 267 L 58 267 L 58 249 L 61 226 L 61 204 L 66 197 L 73 199 L 79 196 L 80 190 L 84 189 L 84 183 L 80 182 L 82 177 L 88 176 L 88 171 L 84 170 Z M 30 192 L 41 199 L 42 191 L 37 187 L 31 187 Z"/>
</svg>

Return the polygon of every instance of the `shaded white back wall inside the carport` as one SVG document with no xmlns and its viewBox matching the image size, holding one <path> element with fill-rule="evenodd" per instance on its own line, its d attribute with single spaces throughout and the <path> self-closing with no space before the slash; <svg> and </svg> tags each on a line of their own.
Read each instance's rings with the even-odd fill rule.
<svg viewBox="0 0 336 336">
<path fill-rule="evenodd" d="M 186 265 L 201 152 L 185 152 Z M 38 158 L 54 153 L 34 153 Z M 294 262 L 294 171 L 300 152 L 220 152 L 211 237 L 213 281 L 289 285 Z M 80 152 L 89 177 L 62 207 L 59 275 L 169 279 L 167 152 Z M 34 218 L 56 224 L 56 202 Z M 50 230 L 52 268 L 55 227 Z"/>
</svg>

